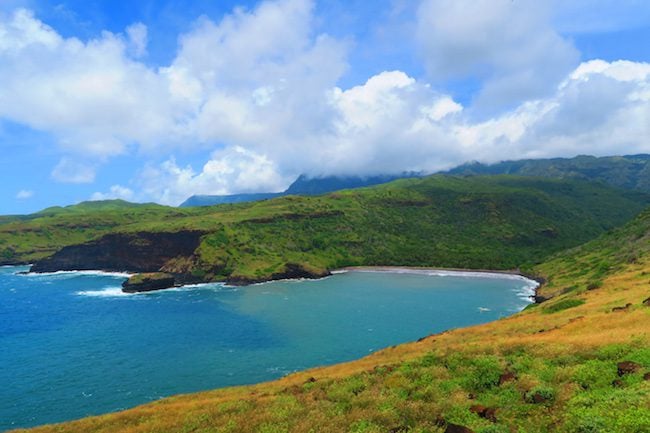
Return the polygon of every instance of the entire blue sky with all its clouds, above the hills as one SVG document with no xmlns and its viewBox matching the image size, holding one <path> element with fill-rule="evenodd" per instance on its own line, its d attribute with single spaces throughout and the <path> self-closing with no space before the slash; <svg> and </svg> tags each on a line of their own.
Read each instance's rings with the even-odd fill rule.
<svg viewBox="0 0 650 433">
<path fill-rule="evenodd" d="M 638 153 L 646 0 L 0 0 L 0 214 Z"/>
</svg>

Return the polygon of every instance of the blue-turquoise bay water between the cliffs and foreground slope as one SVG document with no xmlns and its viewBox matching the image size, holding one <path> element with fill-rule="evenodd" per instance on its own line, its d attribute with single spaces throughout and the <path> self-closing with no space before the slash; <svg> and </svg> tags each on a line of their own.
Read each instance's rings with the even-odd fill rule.
<svg viewBox="0 0 650 433">
<path fill-rule="evenodd" d="M 271 380 L 530 301 L 516 278 L 349 272 L 124 295 L 122 275 L 0 268 L 0 431 Z"/>
</svg>

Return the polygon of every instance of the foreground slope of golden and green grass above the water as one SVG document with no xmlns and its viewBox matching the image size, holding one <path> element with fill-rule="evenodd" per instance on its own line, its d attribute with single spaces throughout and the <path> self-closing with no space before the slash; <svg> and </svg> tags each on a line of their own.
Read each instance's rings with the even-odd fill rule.
<svg viewBox="0 0 650 433">
<path fill-rule="evenodd" d="M 536 271 L 555 297 L 509 318 L 267 384 L 29 431 L 650 431 L 650 211 Z"/>
</svg>

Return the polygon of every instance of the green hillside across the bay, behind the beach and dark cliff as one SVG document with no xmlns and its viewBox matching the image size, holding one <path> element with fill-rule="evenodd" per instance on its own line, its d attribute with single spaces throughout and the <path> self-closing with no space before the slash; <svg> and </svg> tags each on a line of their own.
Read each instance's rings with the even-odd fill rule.
<svg viewBox="0 0 650 433">
<path fill-rule="evenodd" d="M 432 176 L 209 208 L 89 203 L 0 224 L 0 257 L 31 262 L 107 233 L 138 242 L 139 233 L 194 230 L 204 233 L 194 254 L 163 271 L 246 282 L 292 268 L 514 269 L 625 223 L 649 197 L 570 180 Z"/>
</svg>

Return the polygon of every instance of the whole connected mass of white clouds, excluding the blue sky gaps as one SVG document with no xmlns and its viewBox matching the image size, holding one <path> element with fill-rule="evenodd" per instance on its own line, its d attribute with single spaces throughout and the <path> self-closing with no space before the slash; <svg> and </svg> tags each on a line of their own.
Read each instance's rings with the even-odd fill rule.
<svg viewBox="0 0 650 433">
<path fill-rule="evenodd" d="M 426 74 L 377 71 L 342 88 L 354 41 L 316 29 L 309 0 L 199 18 L 167 65 L 148 32 L 83 41 L 27 9 L 0 14 L 0 118 L 56 137 L 58 182 L 92 183 L 119 155 L 168 155 L 94 198 L 178 204 L 279 191 L 298 174 L 433 172 L 468 161 L 650 151 L 650 64 L 580 59 L 551 3 L 423 0 Z M 450 80 L 476 80 L 461 103 Z M 210 152 L 203 167 L 176 152 Z"/>
</svg>

